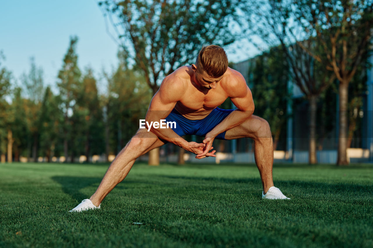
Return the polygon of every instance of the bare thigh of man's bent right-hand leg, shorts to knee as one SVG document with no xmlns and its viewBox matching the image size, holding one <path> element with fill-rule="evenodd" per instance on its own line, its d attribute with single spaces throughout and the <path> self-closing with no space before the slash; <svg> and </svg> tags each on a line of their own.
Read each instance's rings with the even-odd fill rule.
<svg viewBox="0 0 373 248">
<path fill-rule="evenodd" d="M 251 115 L 250 118 L 245 120 L 243 123 L 227 130 L 225 133 L 225 139 L 233 140 L 245 137 L 255 139 L 258 138 L 258 135 L 263 136 L 261 138 L 270 138 L 272 137 L 270 132 L 260 132 L 260 130 L 267 127 L 269 126 L 266 120 L 256 115 Z"/>
</svg>

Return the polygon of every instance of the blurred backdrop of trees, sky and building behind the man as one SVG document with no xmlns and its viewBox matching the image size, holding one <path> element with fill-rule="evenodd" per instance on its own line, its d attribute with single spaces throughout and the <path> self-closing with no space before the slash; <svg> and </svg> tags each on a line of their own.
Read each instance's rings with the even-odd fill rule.
<svg viewBox="0 0 373 248">
<path fill-rule="evenodd" d="M 373 0 L 0 6 L 1 163 L 112 161 L 162 79 L 209 44 L 245 77 L 275 162 L 373 162 Z M 166 144 L 140 160 L 255 161 L 251 139 L 214 147 L 216 158 L 197 160 Z"/>
</svg>

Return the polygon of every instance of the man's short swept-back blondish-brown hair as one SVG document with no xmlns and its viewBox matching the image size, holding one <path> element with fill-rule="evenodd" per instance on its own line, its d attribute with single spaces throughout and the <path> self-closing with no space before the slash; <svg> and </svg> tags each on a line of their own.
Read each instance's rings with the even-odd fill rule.
<svg viewBox="0 0 373 248">
<path fill-rule="evenodd" d="M 195 61 L 198 71 L 206 71 L 209 76 L 218 78 L 228 69 L 228 57 L 222 47 L 203 46 Z"/>
</svg>

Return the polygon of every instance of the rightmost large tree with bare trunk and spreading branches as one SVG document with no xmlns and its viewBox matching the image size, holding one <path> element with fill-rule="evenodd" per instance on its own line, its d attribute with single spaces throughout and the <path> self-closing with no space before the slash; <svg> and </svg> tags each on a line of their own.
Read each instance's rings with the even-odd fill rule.
<svg viewBox="0 0 373 248">
<path fill-rule="evenodd" d="M 348 86 L 372 50 L 373 1 L 298 0 L 293 7 L 306 38 L 316 38 L 325 55 L 297 44 L 339 80 L 337 165 L 347 165 Z"/>
</svg>

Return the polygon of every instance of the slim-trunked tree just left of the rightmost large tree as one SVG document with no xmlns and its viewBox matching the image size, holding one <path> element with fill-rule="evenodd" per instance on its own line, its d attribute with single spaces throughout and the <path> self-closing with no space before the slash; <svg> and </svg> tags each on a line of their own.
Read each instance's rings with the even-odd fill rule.
<svg viewBox="0 0 373 248">
<path fill-rule="evenodd" d="M 247 2 L 245 2 L 247 4 Z M 282 48 L 289 65 L 292 81 L 299 87 L 309 101 L 309 158 L 311 164 L 316 159 L 316 110 L 317 101 L 335 79 L 332 73 L 319 70 L 314 58 L 303 48 L 319 52 L 320 44 L 313 36 L 307 36 L 299 23 L 295 22 L 294 4 L 292 1 L 268 0 L 253 4 L 251 8 L 243 8 L 249 22 L 250 35 L 257 35 L 270 47 Z M 257 42 L 258 47 L 260 45 Z M 320 55 L 320 57 L 323 55 Z M 282 63 L 278 61 L 278 63 Z"/>
</svg>

